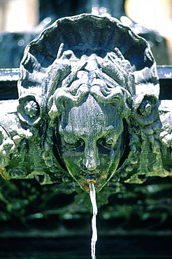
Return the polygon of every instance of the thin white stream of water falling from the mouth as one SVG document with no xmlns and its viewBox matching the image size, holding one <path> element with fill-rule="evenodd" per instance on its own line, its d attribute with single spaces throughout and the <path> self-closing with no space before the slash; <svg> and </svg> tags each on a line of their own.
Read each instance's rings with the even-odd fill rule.
<svg viewBox="0 0 172 259">
<path fill-rule="evenodd" d="M 94 183 L 89 184 L 89 196 L 92 202 L 92 241 L 91 241 L 91 253 L 92 259 L 96 259 L 96 240 L 97 240 L 97 232 L 96 232 L 96 192 L 94 188 Z"/>
</svg>

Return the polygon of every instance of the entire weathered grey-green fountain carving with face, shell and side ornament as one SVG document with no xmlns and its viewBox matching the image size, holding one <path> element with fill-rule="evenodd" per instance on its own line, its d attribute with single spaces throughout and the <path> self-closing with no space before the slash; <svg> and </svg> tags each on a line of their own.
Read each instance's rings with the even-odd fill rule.
<svg viewBox="0 0 172 259">
<path fill-rule="evenodd" d="M 83 14 L 45 29 L 27 45 L 18 93 L 0 119 L 4 178 L 72 176 L 99 192 L 171 176 L 171 102 L 158 103 L 148 43 L 115 18 Z"/>
</svg>

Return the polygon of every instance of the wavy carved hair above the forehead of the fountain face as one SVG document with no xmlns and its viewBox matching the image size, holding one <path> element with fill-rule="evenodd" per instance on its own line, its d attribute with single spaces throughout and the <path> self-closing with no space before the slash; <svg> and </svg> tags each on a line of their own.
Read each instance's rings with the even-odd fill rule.
<svg viewBox="0 0 172 259">
<path fill-rule="evenodd" d="M 75 76 L 71 72 L 50 97 L 50 118 L 59 116 L 64 111 L 66 102 L 78 104 L 87 94 L 91 94 L 97 102 L 114 104 L 122 117 L 129 116 L 135 92 L 134 75 L 131 65 L 120 51 L 116 49 L 115 52 L 108 53 L 104 59 L 95 54 L 84 57 L 81 67 L 85 67 L 85 70 L 80 70 L 78 66 Z M 64 53 L 64 57 L 65 55 Z M 90 69 L 92 62 L 96 66 L 94 70 Z M 52 88 L 54 87 L 49 87 Z"/>
</svg>

